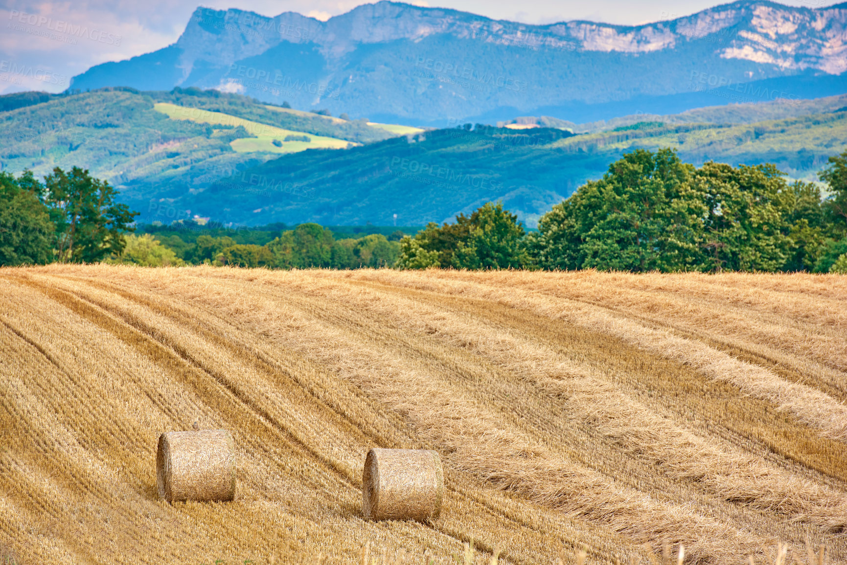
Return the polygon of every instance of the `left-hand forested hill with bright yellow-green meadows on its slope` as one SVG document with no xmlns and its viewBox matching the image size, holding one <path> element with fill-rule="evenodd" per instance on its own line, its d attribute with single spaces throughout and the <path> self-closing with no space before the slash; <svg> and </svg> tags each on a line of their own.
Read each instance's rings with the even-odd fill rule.
<svg viewBox="0 0 847 565">
<path fill-rule="evenodd" d="M 236 167 L 261 163 L 278 152 L 313 147 L 312 141 L 285 141 L 285 136 L 279 140 L 281 147 L 275 147 L 270 134 L 285 132 L 297 138 L 307 134 L 319 147 L 346 147 L 348 142 L 396 135 L 365 121 L 292 112 L 219 92 L 116 88 L 63 96 L 41 94 L 0 97 L 0 107 L 5 100 L 8 106 L 19 106 L 0 112 L 0 170 L 17 174 L 32 169 L 42 175 L 56 166 L 80 166 L 115 186 L 141 183 L 145 196 L 169 186 L 178 186 L 181 195 Z M 156 111 L 157 103 L 183 108 L 185 115 L 175 117 L 209 115 L 215 124 L 169 119 Z"/>
</svg>

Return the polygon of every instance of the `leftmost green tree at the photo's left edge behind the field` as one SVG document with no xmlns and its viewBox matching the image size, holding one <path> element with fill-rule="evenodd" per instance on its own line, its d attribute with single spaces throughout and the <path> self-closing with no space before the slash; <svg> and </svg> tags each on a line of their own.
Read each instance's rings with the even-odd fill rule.
<svg viewBox="0 0 847 565">
<path fill-rule="evenodd" d="M 29 171 L 0 173 L 0 265 L 53 261 L 55 226 L 40 200 L 42 185 Z"/>
</svg>

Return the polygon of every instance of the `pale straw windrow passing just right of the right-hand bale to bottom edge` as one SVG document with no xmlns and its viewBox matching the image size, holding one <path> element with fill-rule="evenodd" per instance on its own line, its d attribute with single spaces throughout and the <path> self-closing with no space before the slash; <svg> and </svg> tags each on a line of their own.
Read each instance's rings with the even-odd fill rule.
<svg viewBox="0 0 847 565">
<path fill-rule="evenodd" d="M 227 305 L 221 303 L 218 307 L 225 310 Z M 254 308 L 258 308 L 256 302 Z M 264 312 L 255 314 L 255 319 L 267 316 L 290 320 L 294 316 L 291 311 L 270 305 Z M 695 519 L 681 508 L 673 507 L 672 510 L 658 505 L 636 491 L 619 492 L 598 474 L 547 457 L 542 446 L 495 424 L 497 418 L 493 414 L 478 415 L 479 408 L 457 397 L 451 385 L 434 380 L 431 375 L 425 376 L 430 372 L 421 363 L 421 355 L 426 357 L 427 344 L 408 346 L 407 352 L 384 352 L 377 348 L 379 340 L 370 335 L 356 338 L 349 330 L 342 332 L 307 319 L 298 328 L 300 330 L 292 335 L 284 333 L 284 326 L 275 326 L 273 331 L 268 327 L 268 333 L 288 346 L 296 343 L 304 353 L 311 352 L 313 357 L 321 359 L 346 379 L 354 379 L 382 398 L 386 405 L 395 407 L 416 424 L 424 437 L 440 446 L 442 452 L 451 453 L 448 457 L 457 468 L 529 500 L 625 532 L 638 540 L 637 543 L 652 541 L 661 547 L 661 540 L 682 541 L 699 559 L 732 558 L 732 550 L 725 545 L 712 546 L 710 540 L 738 539 L 741 534 L 737 530 L 729 535 L 722 524 L 707 518 Z M 333 352 L 321 354 L 318 346 L 321 340 L 334 343 L 335 351 L 344 352 L 343 357 Z M 374 361 L 378 361 L 379 368 Z M 443 388 L 436 386 L 436 382 L 441 382 Z M 462 416 L 458 417 L 459 414 Z M 481 453 L 486 455 L 483 457 Z M 573 501 L 579 498 L 583 503 L 574 506 Z M 710 533 L 706 534 L 707 531 Z M 685 537 L 679 539 L 682 532 Z M 750 548 L 756 546 L 755 541 L 747 543 Z"/>
</svg>

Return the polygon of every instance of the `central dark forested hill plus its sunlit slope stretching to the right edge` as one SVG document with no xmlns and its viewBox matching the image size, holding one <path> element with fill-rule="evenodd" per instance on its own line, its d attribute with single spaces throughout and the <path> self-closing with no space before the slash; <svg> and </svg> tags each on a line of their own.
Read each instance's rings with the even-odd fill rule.
<svg viewBox="0 0 847 565">
<path fill-rule="evenodd" d="M 236 169 L 202 191 L 174 197 L 225 223 L 269 221 L 408 225 L 443 221 L 501 199 L 534 226 L 540 214 L 596 179 L 625 151 L 675 147 L 690 163 L 776 163 L 815 178 L 844 150 L 847 112 L 749 125 L 645 123 L 590 135 L 562 130 L 434 130 L 340 152 L 307 151 Z M 147 202 L 139 199 L 136 207 Z M 158 210 L 157 210 L 158 213 Z M 152 214 L 142 215 L 152 221 Z"/>
</svg>

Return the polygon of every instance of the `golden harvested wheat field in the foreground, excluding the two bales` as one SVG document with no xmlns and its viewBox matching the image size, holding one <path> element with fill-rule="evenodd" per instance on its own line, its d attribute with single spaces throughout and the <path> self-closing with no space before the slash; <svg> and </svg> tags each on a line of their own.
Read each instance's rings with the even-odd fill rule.
<svg viewBox="0 0 847 565">
<path fill-rule="evenodd" d="M 0 547 L 29 563 L 847 562 L 847 277 L 0 269 Z M 229 502 L 158 497 L 227 429 Z M 373 447 L 435 520 L 365 521 Z"/>
</svg>

